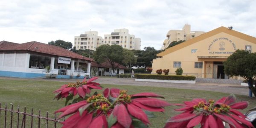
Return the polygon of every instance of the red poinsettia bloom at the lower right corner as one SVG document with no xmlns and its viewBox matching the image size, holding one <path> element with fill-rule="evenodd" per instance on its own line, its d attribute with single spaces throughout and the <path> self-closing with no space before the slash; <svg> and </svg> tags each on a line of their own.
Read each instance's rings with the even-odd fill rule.
<svg viewBox="0 0 256 128">
<path fill-rule="evenodd" d="M 236 102 L 236 97 L 230 95 L 223 97 L 217 102 L 210 99 L 193 99 L 184 104 L 174 104 L 183 106 L 176 111 L 184 111 L 177 116 L 171 117 L 165 128 L 193 128 L 201 125 L 202 128 L 224 128 L 223 122 L 230 125 L 230 128 L 254 128 L 245 116 L 235 109 L 247 108 L 248 102 Z"/>
</svg>

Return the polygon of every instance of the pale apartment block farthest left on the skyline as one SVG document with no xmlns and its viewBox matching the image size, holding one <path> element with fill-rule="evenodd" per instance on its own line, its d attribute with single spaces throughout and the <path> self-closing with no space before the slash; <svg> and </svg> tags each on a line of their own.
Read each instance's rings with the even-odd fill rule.
<svg viewBox="0 0 256 128">
<path fill-rule="evenodd" d="M 76 49 L 91 49 L 96 50 L 97 47 L 103 44 L 103 39 L 98 36 L 97 31 L 84 32 L 79 36 L 75 36 L 74 45 Z"/>
</svg>

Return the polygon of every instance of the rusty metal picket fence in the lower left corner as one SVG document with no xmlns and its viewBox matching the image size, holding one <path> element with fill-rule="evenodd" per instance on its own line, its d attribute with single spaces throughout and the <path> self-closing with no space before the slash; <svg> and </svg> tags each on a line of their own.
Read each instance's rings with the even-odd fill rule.
<svg viewBox="0 0 256 128">
<path fill-rule="evenodd" d="M 7 104 L 2 108 L 0 103 L 0 128 L 57 128 L 60 125 L 61 120 L 57 120 L 56 113 L 54 114 L 54 119 L 49 118 L 48 111 L 46 116 L 41 116 L 41 110 L 38 111 L 39 115 L 35 115 L 33 108 L 31 112 L 20 111 L 20 106 L 17 107 L 17 111 L 13 110 L 13 105 L 11 109 L 7 109 Z M 3 119 L 2 119 L 3 118 Z M 43 126 L 42 126 L 43 125 Z"/>
</svg>

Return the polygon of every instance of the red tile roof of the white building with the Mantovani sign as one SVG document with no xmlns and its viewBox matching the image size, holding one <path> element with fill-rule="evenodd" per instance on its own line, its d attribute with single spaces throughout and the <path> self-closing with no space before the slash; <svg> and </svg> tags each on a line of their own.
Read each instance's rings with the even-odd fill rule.
<svg viewBox="0 0 256 128">
<path fill-rule="evenodd" d="M 79 55 L 75 52 L 71 52 L 62 47 L 58 47 L 50 44 L 44 44 L 36 41 L 27 42 L 23 44 L 1 41 L 0 51 L 30 51 L 30 52 L 38 52 L 38 53 L 44 53 L 49 55 L 61 56 L 61 57 L 76 58 L 76 59 L 81 59 L 86 61 L 94 61 L 92 58 L 84 57 L 82 55 Z"/>
</svg>

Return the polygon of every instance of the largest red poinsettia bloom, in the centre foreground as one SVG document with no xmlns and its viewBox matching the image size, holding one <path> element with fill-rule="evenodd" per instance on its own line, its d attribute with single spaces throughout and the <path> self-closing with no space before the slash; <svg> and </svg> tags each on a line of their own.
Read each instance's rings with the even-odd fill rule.
<svg viewBox="0 0 256 128">
<path fill-rule="evenodd" d="M 152 97 L 152 98 L 151 98 Z M 81 102 L 68 105 L 55 111 L 62 112 L 61 117 L 71 115 L 62 128 L 135 128 L 147 127 L 150 122 L 147 115 L 163 112 L 168 102 L 155 93 L 128 95 L 126 90 L 105 89 Z"/>
</svg>

